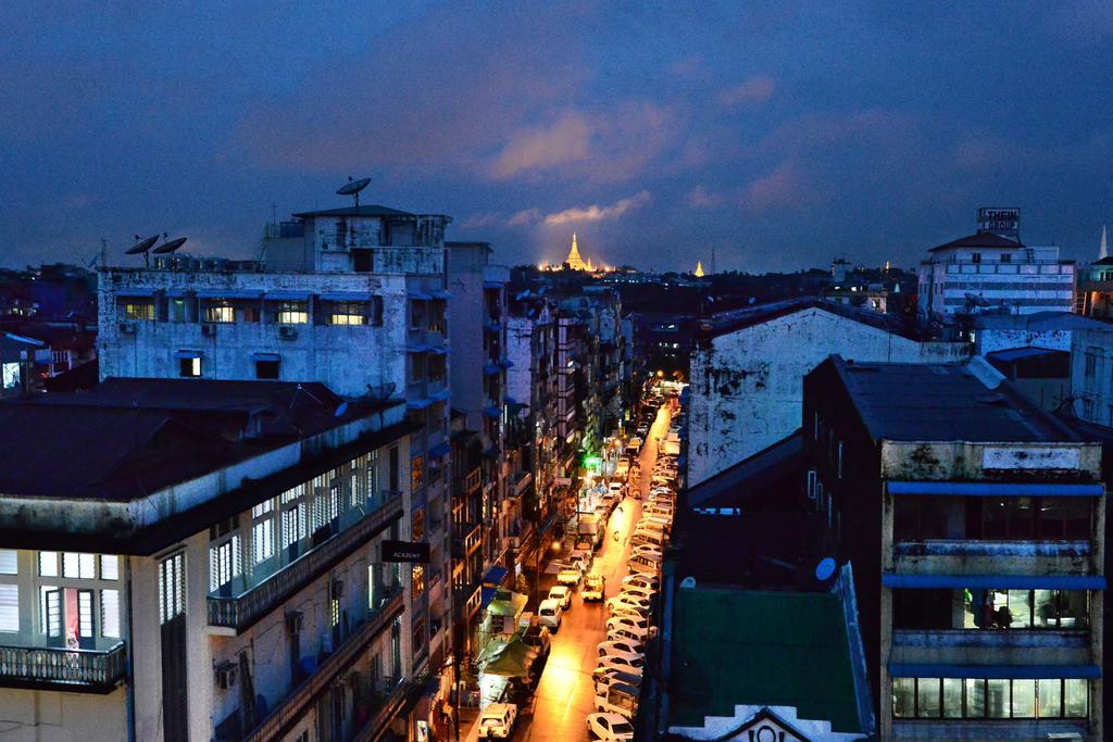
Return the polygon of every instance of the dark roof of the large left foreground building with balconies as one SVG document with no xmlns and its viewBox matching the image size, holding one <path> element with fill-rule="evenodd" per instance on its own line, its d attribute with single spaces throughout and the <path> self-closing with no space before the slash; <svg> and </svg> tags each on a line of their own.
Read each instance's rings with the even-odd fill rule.
<svg viewBox="0 0 1113 742">
<path fill-rule="evenodd" d="M 402 402 L 343 404 L 316 383 L 146 378 L 3 404 L 0 493 L 132 499 Z"/>
</svg>

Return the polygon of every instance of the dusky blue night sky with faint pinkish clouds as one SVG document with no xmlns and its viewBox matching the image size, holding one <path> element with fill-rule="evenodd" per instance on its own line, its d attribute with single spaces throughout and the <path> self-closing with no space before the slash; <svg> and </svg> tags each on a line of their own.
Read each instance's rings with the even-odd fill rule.
<svg viewBox="0 0 1113 742">
<path fill-rule="evenodd" d="M 0 265 L 249 257 L 349 175 L 510 264 L 909 266 L 978 206 L 1091 259 L 1113 221 L 1110 2 L 177 4 L 0 3 Z"/>
</svg>

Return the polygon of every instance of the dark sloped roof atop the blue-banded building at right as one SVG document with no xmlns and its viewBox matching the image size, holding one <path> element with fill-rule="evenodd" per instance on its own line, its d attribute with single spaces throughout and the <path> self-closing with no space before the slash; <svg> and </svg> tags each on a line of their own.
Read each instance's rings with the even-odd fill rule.
<svg viewBox="0 0 1113 742">
<path fill-rule="evenodd" d="M 981 358 L 940 365 L 847 363 L 831 356 L 824 363 L 834 364 L 875 441 L 1080 439 Z"/>
</svg>

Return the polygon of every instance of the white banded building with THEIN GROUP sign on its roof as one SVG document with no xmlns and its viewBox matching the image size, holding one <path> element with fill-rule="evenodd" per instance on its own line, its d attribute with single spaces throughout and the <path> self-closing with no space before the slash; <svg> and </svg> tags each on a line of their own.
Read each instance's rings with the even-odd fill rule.
<svg viewBox="0 0 1113 742">
<path fill-rule="evenodd" d="M 978 212 L 978 230 L 928 250 L 920 264 L 918 313 L 923 323 L 951 325 L 956 314 L 998 307 L 1013 314 L 1072 311 L 1075 266 L 1058 247 L 1021 241 L 1018 211 L 1007 219 Z"/>
</svg>

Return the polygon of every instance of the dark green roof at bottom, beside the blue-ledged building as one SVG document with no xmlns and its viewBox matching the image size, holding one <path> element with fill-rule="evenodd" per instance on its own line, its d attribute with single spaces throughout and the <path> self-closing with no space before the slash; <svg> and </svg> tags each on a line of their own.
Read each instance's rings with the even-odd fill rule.
<svg viewBox="0 0 1113 742">
<path fill-rule="evenodd" d="M 702 726 L 705 716 L 732 716 L 736 704 L 762 704 L 861 731 L 836 595 L 697 585 L 677 591 L 673 625 L 670 725 Z"/>
</svg>

